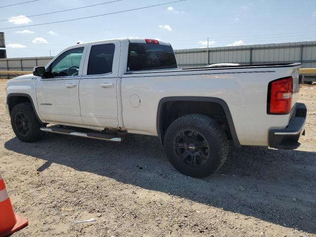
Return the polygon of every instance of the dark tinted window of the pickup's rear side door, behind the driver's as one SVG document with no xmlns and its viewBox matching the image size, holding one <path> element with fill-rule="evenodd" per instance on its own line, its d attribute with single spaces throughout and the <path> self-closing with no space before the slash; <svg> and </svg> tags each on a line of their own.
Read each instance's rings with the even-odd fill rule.
<svg viewBox="0 0 316 237">
<path fill-rule="evenodd" d="M 98 44 L 91 47 L 87 75 L 112 73 L 114 43 Z"/>
</svg>

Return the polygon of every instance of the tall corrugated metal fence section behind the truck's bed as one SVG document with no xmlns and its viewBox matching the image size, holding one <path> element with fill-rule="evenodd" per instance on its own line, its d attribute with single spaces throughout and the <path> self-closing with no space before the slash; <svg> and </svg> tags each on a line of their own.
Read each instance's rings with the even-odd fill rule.
<svg viewBox="0 0 316 237">
<path fill-rule="evenodd" d="M 197 68 L 214 63 L 263 64 L 302 62 L 303 68 L 316 68 L 316 41 L 270 43 L 245 46 L 175 50 L 180 68 Z"/>
</svg>

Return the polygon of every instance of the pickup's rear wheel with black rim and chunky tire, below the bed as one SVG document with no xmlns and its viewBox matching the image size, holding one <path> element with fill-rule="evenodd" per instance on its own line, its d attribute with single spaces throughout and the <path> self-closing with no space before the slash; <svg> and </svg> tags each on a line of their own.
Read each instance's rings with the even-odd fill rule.
<svg viewBox="0 0 316 237">
<path fill-rule="evenodd" d="M 212 118 L 201 114 L 182 116 L 173 121 L 164 137 L 171 164 L 182 174 L 195 178 L 215 173 L 228 156 L 225 132 Z"/>
</svg>

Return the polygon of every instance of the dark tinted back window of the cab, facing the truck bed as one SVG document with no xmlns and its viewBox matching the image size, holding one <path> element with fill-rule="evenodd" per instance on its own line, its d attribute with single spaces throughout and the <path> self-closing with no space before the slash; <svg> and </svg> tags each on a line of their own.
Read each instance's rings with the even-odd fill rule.
<svg viewBox="0 0 316 237">
<path fill-rule="evenodd" d="M 127 72 L 177 68 L 177 61 L 170 45 L 129 43 Z"/>
</svg>

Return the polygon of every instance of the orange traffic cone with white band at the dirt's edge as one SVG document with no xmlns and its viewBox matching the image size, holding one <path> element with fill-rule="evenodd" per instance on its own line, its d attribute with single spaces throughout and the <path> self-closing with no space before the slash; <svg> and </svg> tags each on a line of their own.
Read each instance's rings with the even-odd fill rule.
<svg viewBox="0 0 316 237">
<path fill-rule="evenodd" d="M 28 225 L 28 221 L 14 213 L 0 174 L 0 237 L 8 236 Z"/>
</svg>

